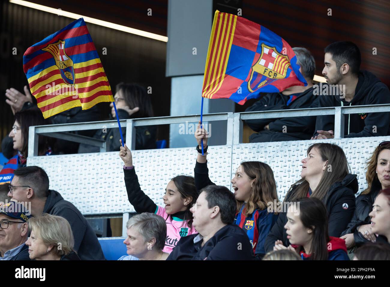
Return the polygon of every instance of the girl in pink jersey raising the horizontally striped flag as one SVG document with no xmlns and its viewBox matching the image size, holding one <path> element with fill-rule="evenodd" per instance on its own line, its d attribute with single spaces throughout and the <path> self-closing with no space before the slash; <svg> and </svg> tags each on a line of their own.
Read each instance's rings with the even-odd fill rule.
<svg viewBox="0 0 390 287">
<path fill-rule="evenodd" d="M 168 182 L 163 196 L 165 207 L 156 203 L 147 196 L 140 187 L 138 177 L 133 166 L 133 157 L 126 144 L 121 146 L 119 157 L 124 162 L 124 182 L 129 202 L 137 213 L 151 212 L 160 215 L 167 223 L 167 238 L 164 252 L 170 253 L 181 237 L 197 233 L 192 225 L 193 217 L 191 206 L 198 198 L 192 176 L 175 176 Z"/>
</svg>

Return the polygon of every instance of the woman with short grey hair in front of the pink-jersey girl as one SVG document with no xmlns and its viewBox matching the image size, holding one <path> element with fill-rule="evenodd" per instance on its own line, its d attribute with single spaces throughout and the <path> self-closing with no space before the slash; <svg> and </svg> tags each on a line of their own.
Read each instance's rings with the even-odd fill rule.
<svg viewBox="0 0 390 287">
<path fill-rule="evenodd" d="M 144 212 L 131 217 L 126 223 L 127 237 L 123 241 L 127 256 L 118 260 L 165 260 L 163 252 L 167 237 L 167 223 L 163 217 Z"/>
</svg>

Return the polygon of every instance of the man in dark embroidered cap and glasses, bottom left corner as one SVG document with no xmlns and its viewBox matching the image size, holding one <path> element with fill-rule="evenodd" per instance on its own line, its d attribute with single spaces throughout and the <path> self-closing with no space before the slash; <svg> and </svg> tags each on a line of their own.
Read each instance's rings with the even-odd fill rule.
<svg viewBox="0 0 390 287">
<path fill-rule="evenodd" d="M 30 260 L 27 221 L 30 212 L 19 202 L 0 207 L 0 260 Z"/>
</svg>

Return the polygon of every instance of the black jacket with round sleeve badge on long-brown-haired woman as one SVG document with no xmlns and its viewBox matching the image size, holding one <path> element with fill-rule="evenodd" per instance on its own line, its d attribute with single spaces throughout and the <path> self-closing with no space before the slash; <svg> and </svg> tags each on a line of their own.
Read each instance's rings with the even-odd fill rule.
<svg viewBox="0 0 390 287">
<path fill-rule="evenodd" d="M 328 233 L 329 236 L 340 237 L 347 224 L 355 212 L 355 193 L 358 191 L 358 180 L 356 175 L 348 174 L 341 182 L 335 182 L 330 187 L 327 193 L 327 200 L 324 202 L 328 211 Z M 289 198 L 294 194 L 296 188 L 290 191 L 284 199 L 289 201 Z M 344 203 L 347 204 L 345 209 Z M 286 230 L 284 228 L 287 223 L 286 212 L 281 212 L 278 221 L 275 223 L 269 232 L 264 248 L 266 252 L 272 251 L 275 246 L 275 241 L 283 241 L 284 246 L 289 246 L 290 242 L 287 239 Z"/>
</svg>

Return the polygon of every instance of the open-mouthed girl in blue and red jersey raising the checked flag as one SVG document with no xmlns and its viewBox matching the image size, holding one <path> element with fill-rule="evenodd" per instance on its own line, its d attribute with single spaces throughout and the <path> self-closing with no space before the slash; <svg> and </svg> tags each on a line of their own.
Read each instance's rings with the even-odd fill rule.
<svg viewBox="0 0 390 287">
<path fill-rule="evenodd" d="M 209 178 L 207 168 L 207 132 L 200 128 L 195 132 L 198 158 L 195 164 L 195 186 L 198 190 L 214 184 Z M 203 140 L 204 155 L 199 146 Z M 264 162 L 242 162 L 231 180 L 234 197 L 237 201 L 237 214 L 234 222 L 249 237 L 256 259 L 264 254 L 264 241 L 278 218 L 276 182 L 272 169 Z"/>
</svg>

